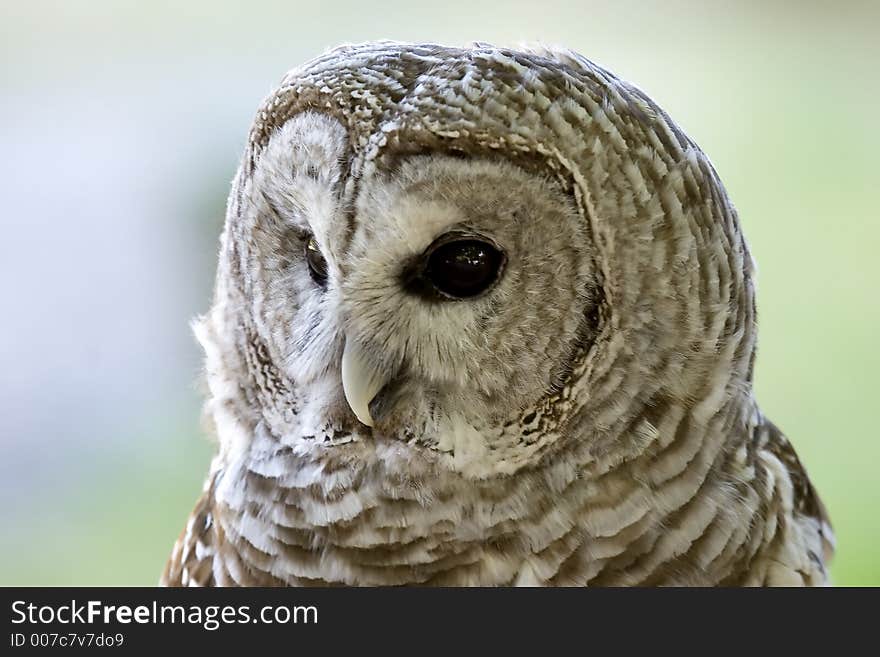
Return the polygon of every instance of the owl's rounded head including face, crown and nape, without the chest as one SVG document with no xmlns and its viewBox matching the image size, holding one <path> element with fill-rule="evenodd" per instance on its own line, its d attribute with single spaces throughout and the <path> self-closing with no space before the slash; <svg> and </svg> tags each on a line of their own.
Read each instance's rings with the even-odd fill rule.
<svg viewBox="0 0 880 657">
<path fill-rule="evenodd" d="M 749 395 L 753 314 L 723 187 L 637 89 L 569 52 L 382 42 L 264 102 L 197 334 L 225 450 L 486 478 Z"/>
</svg>

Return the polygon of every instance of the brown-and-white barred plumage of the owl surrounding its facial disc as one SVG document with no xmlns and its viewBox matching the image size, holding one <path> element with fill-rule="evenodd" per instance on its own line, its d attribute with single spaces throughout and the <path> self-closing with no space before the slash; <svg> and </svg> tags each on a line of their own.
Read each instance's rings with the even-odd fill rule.
<svg viewBox="0 0 880 657">
<path fill-rule="evenodd" d="M 407 157 L 500 154 L 549 174 L 596 245 L 588 339 L 561 386 L 474 428 L 470 470 L 418 435 L 304 429 L 251 208 L 278 135 L 311 114 L 342 126 L 341 206 Z M 291 71 L 251 129 L 196 330 L 220 449 L 165 585 L 827 583 L 827 514 L 752 397 L 736 212 L 660 108 L 576 53 L 382 42 Z"/>
</svg>

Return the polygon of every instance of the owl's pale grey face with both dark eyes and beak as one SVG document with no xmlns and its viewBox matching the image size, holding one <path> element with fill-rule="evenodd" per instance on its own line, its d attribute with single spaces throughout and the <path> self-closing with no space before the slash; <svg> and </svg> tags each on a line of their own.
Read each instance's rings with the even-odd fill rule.
<svg viewBox="0 0 880 657">
<path fill-rule="evenodd" d="M 595 332 L 588 229 L 547 175 L 430 154 L 354 180 L 348 144 L 292 117 L 240 201 L 244 296 L 297 431 L 484 453 Z"/>
</svg>

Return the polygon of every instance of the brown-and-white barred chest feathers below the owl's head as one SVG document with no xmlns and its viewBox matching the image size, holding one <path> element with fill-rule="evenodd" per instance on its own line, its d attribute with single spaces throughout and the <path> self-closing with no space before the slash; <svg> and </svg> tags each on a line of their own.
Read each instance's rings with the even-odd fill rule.
<svg viewBox="0 0 880 657">
<path fill-rule="evenodd" d="M 476 481 L 399 445 L 315 458 L 255 440 L 215 460 L 203 512 L 175 551 L 179 583 L 197 573 L 216 585 L 824 581 L 821 530 L 796 513 L 780 463 L 696 427 L 662 442 L 615 467 L 568 454 Z"/>
</svg>

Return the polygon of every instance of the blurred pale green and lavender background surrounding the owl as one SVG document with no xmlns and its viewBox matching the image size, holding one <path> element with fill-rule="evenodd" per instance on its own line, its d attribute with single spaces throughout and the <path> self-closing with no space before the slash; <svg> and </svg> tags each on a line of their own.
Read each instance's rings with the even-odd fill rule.
<svg viewBox="0 0 880 657">
<path fill-rule="evenodd" d="M 758 261 L 756 371 L 880 584 L 880 3 L 0 3 L 0 584 L 152 584 L 212 452 L 200 357 L 228 181 L 286 69 L 341 42 L 561 44 L 712 158 Z"/>
</svg>

